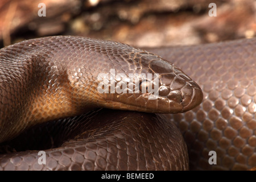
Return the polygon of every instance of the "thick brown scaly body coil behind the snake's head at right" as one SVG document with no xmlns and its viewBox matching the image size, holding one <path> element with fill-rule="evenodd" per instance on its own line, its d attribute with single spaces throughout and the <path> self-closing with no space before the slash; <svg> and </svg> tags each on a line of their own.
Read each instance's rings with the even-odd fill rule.
<svg viewBox="0 0 256 182">
<path fill-rule="evenodd" d="M 256 39 L 148 48 L 181 68 L 204 93 L 200 106 L 169 115 L 177 122 L 192 170 L 256 166 Z M 216 151 L 217 164 L 208 163 Z"/>
</svg>

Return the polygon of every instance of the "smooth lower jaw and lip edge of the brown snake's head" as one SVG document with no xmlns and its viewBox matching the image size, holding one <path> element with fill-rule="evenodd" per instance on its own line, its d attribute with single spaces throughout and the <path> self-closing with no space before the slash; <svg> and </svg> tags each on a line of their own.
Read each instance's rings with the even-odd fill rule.
<svg viewBox="0 0 256 182">
<path fill-rule="evenodd" d="M 123 96 L 126 95 L 126 96 Z M 137 110 L 146 113 L 183 113 L 191 110 L 201 103 L 203 100 L 203 93 L 201 89 L 194 88 L 191 100 L 187 102 L 185 97 L 180 95 L 180 100 L 170 100 L 167 97 L 158 96 L 156 100 L 148 100 L 150 94 L 135 94 L 137 98 L 130 100 L 131 97 L 136 97 L 134 94 L 105 94 L 104 107 L 109 109 L 119 110 Z M 130 97 L 129 97 L 130 96 Z M 120 98 L 126 98 L 120 100 Z"/>
</svg>

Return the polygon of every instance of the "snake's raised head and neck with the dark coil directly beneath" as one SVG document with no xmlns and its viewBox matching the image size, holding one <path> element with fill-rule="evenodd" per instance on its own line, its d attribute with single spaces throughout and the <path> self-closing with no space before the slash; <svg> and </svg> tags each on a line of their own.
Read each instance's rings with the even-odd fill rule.
<svg viewBox="0 0 256 182">
<path fill-rule="evenodd" d="M 132 74 L 132 87 L 112 78 L 111 69 L 125 79 Z M 148 74 L 157 76 L 150 80 Z M 109 80 L 100 89 L 109 92 L 98 91 L 103 78 Z M 120 82 L 122 92 L 112 92 Z M 35 149 L 46 150 L 43 138 L 46 146 L 59 147 L 46 150 L 45 166 L 38 151 L 3 154 L 1 169 L 188 169 L 174 123 L 132 111 L 185 112 L 200 104 L 203 93 L 174 64 L 150 52 L 77 36 L 31 39 L 1 49 L 0 86 L 2 146 L 31 150 L 13 144 L 25 138 L 31 143 L 40 133 Z M 100 107 L 130 111 L 94 110 Z M 13 139 L 27 129 L 32 137 Z"/>
</svg>

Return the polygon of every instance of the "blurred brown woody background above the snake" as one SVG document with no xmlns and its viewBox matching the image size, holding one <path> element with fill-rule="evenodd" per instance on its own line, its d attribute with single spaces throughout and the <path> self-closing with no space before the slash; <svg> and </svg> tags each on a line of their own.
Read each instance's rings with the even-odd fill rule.
<svg viewBox="0 0 256 182">
<path fill-rule="evenodd" d="M 46 16 L 39 17 L 39 3 Z M 209 16 L 216 3 L 217 16 Z M 1 0 L 0 47 L 24 39 L 79 35 L 135 47 L 252 38 L 254 0 Z"/>
</svg>

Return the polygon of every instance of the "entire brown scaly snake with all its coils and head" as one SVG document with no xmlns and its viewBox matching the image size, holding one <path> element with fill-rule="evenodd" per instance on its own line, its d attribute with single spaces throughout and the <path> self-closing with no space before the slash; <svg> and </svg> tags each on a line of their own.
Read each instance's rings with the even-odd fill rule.
<svg viewBox="0 0 256 182">
<path fill-rule="evenodd" d="M 2 48 L 0 142 L 26 140 L 22 148 L 35 140 L 31 145 L 38 147 L 0 154 L 0 169 L 254 167 L 255 45 L 256 39 L 242 39 L 142 51 L 106 40 L 53 36 Z M 111 75 L 110 68 L 135 73 L 139 93 L 99 94 L 96 77 Z M 156 99 L 142 93 L 143 85 L 149 86 L 142 73 L 159 74 Z M 28 135 L 20 134 L 27 128 Z M 62 144 L 40 148 L 44 138 L 47 147 Z M 38 148 L 46 151 L 44 165 L 38 164 Z M 209 151 L 216 151 L 217 164 L 208 163 Z"/>
</svg>

